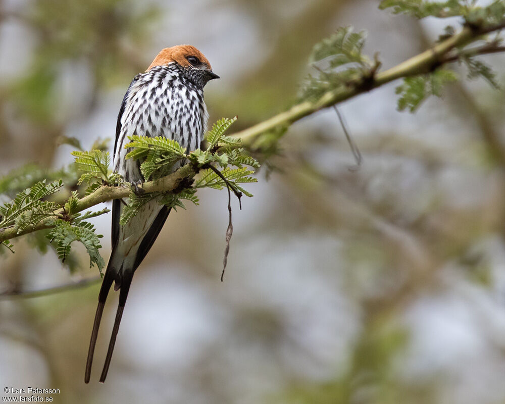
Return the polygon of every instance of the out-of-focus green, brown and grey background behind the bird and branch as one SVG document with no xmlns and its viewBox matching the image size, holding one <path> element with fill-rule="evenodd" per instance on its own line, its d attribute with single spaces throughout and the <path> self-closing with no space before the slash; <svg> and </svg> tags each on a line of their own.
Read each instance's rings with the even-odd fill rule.
<svg viewBox="0 0 505 404">
<path fill-rule="evenodd" d="M 208 57 L 222 77 L 206 88 L 211 121 L 238 115 L 238 130 L 292 105 L 313 45 L 337 27 L 366 29 L 365 53 L 387 68 L 447 25 L 377 6 L 3 0 L 0 170 L 31 163 L 42 176 L 72 161 L 65 137 L 112 138 L 131 77 L 162 47 Z M 504 57 L 485 60 L 503 83 Z M 135 275 L 104 385 L 83 383 L 96 283 L 0 301 L 0 387 L 59 388 L 55 402 L 72 403 L 503 402 L 503 90 L 454 83 L 411 115 L 396 111 L 394 87 L 341 106 L 358 171 L 333 111 L 289 128 L 268 181 L 260 171 L 234 214 L 224 283 L 226 194 L 205 190 L 200 207 L 171 215 Z M 93 223 L 107 258 L 110 217 Z M 0 292 L 97 272 L 82 249 L 74 274 L 21 239 L 16 251 Z"/>
</svg>

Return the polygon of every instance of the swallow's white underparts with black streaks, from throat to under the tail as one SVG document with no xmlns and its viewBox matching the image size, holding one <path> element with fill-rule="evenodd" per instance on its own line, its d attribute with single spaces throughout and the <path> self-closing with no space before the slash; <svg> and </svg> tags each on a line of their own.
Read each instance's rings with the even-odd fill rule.
<svg viewBox="0 0 505 404">
<path fill-rule="evenodd" d="M 182 70 L 175 63 L 156 66 L 139 74 L 130 84 L 114 159 L 114 169 L 125 181 L 143 181 L 139 162 L 125 160 L 127 136 L 165 136 L 177 140 L 188 151 L 199 147 L 208 120 L 204 91 Z M 133 266 L 137 248 L 161 208 L 157 199 L 152 200 L 119 229 L 119 250 L 115 257 L 123 262 L 113 265 L 118 271 Z"/>
</svg>

